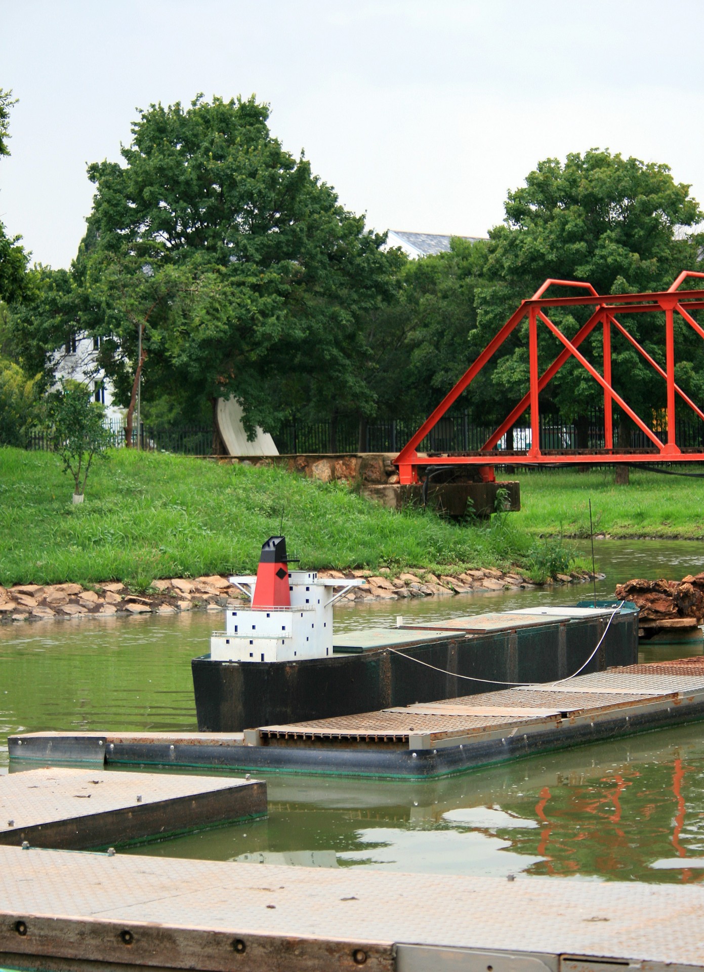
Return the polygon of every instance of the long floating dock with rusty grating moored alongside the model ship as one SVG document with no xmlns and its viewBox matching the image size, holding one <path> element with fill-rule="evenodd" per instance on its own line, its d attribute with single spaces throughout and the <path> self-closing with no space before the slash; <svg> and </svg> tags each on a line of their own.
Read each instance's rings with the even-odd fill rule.
<svg viewBox="0 0 704 972">
<path fill-rule="evenodd" d="M 704 718 L 704 657 L 244 733 L 35 733 L 11 760 L 427 779 Z"/>
</svg>

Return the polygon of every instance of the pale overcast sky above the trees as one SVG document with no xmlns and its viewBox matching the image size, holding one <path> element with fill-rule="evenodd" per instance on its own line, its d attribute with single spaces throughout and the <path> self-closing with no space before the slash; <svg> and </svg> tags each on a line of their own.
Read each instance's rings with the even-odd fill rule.
<svg viewBox="0 0 704 972">
<path fill-rule="evenodd" d="M 370 226 L 484 235 L 540 158 L 667 162 L 704 202 L 701 0 L 0 0 L 0 220 L 67 266 L 136 107 L 256 93 Z"/>
</svg>

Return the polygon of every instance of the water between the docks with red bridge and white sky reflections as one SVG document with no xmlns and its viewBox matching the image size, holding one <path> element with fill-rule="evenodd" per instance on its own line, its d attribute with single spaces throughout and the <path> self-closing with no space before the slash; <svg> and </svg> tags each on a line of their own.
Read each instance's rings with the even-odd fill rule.
<svg viewBox="0 0 704 972">
<path fill-rule="evenodd" d="M 704 853 L 697 725 L 440 781 L 267 783 L 268 819 L 149 852 L 264 862 L 284 854 L 293 864 L 314 854 L 318 866 L 466 875 L 704 879 L 696 866 Z M 683 866 L 652 867 L 661 860 Z"/>
</svg>

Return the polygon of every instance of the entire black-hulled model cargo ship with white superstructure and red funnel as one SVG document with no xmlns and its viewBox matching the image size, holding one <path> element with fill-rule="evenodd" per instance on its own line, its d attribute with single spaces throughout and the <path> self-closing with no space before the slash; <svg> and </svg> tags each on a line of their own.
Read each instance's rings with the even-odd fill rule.
<svg viewBox="0 0 704 972">
<path fill-rule="evenodd" d="M 284 537 L 266 540 L 256 576 L 230 582 L 251 603 L 228 608 L 225 631 L 192 661 L 201 733 L 437 702 L 638 660 L 638 609 L 628 602 L 433 625 L 401 619 L 396 628 L 335 635 L 334 604 L 362 581 L 289 571 Z"/>
</svg>

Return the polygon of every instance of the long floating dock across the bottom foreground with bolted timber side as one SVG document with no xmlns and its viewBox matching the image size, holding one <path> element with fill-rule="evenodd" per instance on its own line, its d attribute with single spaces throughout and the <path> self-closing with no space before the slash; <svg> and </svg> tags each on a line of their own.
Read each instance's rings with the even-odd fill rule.
<svg viewBox="0 0 704 972">
<path fill-rule="evenodd" d="M 0 848 L 0 966 L 684 972 L 704 889 Z"/>
</svg>

